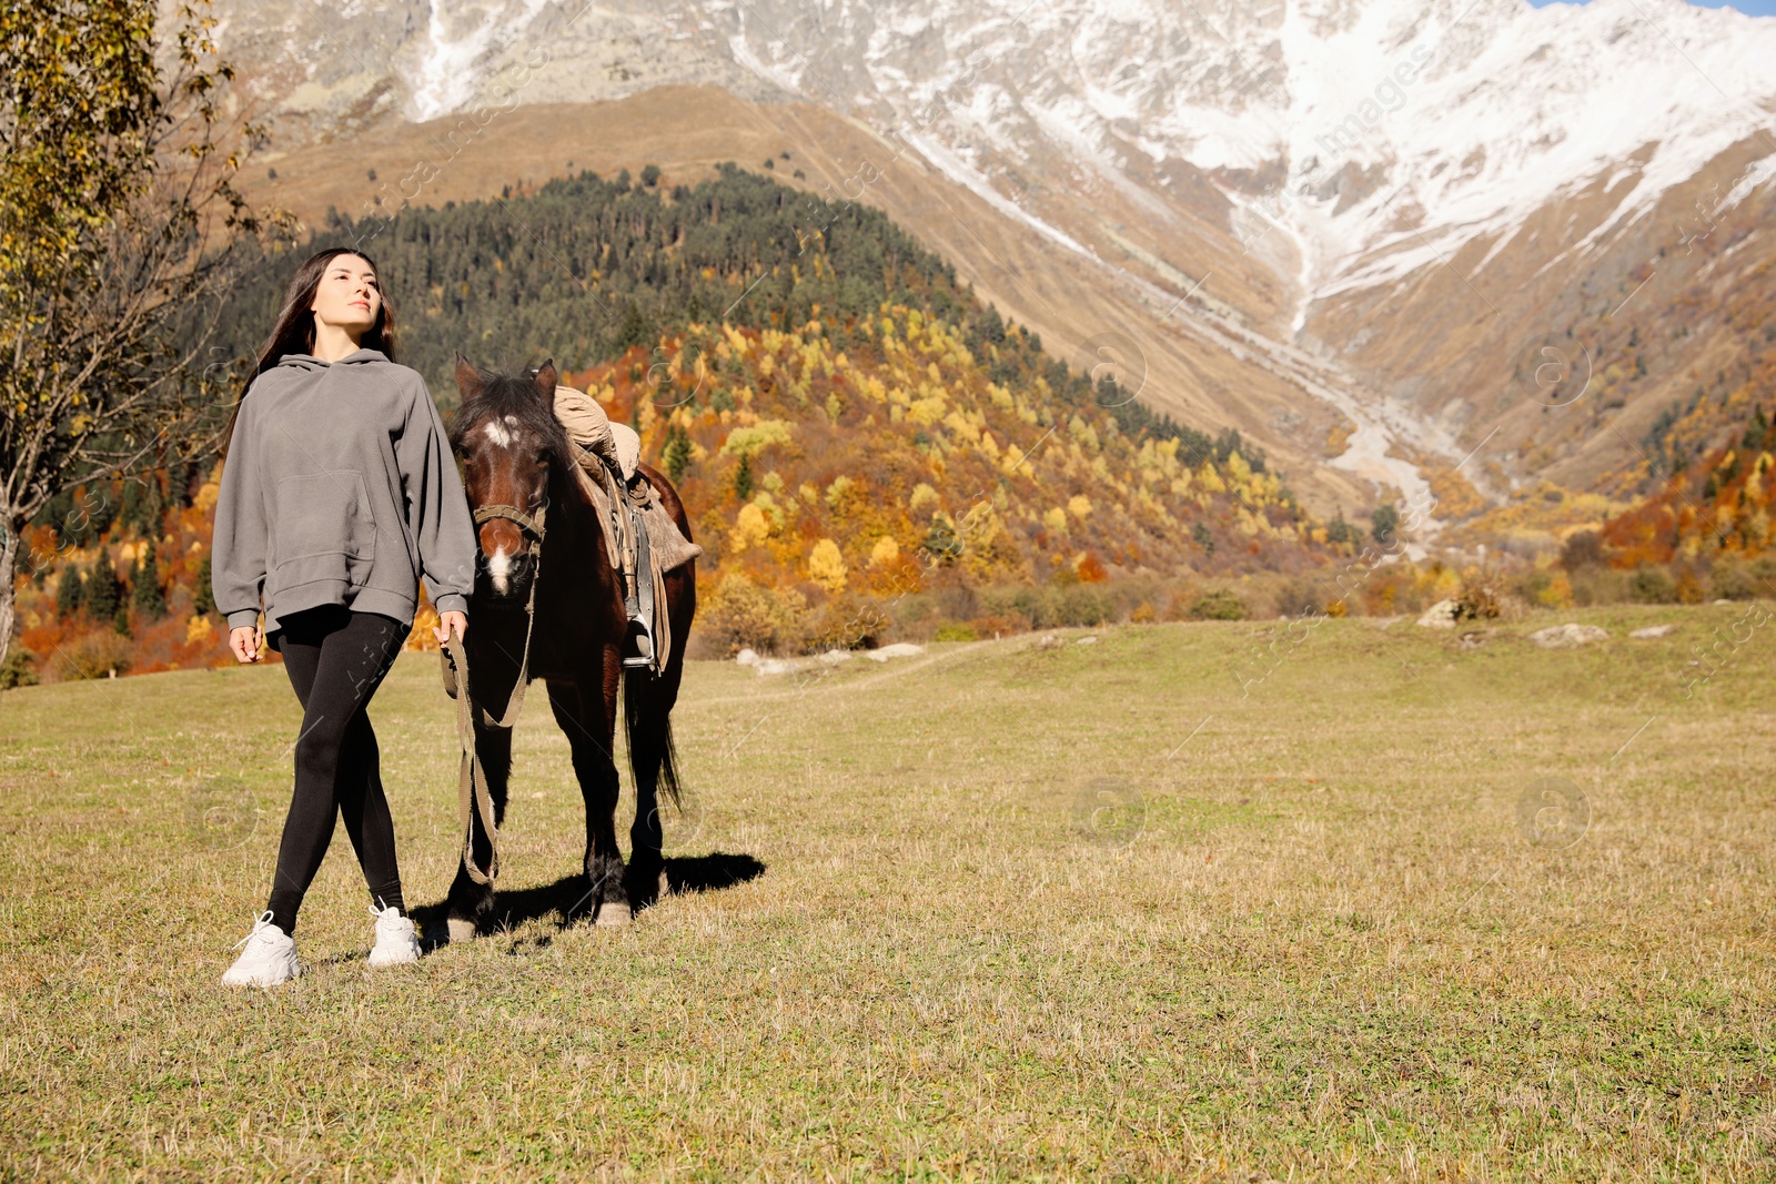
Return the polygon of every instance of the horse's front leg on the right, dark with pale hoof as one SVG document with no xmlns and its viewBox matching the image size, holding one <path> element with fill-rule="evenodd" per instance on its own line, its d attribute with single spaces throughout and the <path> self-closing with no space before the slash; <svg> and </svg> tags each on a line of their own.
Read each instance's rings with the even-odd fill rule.
<svg viewBox="0 0 1776 1184">
<path fill-rule="evenodd" d="M 574 776 L 586 802 L 588 902 L 599 925 L 629 921 L 623 889 L 623 852 L 616 847 L 616 671 L 622 659 L 614 646 L 600 646 L 606 660 L 593 678 L 549 683 L 549 706 L 567 733 L 574 753 Z"/>
</svg>

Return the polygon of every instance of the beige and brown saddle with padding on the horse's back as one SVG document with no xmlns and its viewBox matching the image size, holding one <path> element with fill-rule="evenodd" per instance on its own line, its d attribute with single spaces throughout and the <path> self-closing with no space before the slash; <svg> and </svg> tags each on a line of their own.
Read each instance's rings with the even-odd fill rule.
<svg viewBox="0 0 1776 1184">
<path fill-rule="evenodd" d="M 664 575 L 703 549 L 678 531 L 654 483 L 641 476 L 634 428 L 613 424 L 595 398 L 574 387 L 556 387 L 554 415 L 575 449 L 581 488 L 604 517 L 611 566 L 623 577 L 623 666 L 659 675 L 671 657 Z"/>
</svg>

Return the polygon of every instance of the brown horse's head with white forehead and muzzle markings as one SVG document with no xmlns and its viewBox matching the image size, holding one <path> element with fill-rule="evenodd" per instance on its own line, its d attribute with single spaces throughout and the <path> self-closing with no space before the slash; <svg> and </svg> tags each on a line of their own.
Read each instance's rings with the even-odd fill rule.
<svg viewBox="0 0 1776 1184">
<path fill-rule="evenodd" d="M 554 417 L 554 362 L 526 375 L 492 375 L 456 355 L 462 407 L 449 442 L 464 458 L 469 506 L 536 520 L 549 504 L 551 469 L 567 472 L 567 431 Z M 524 596 L 536 575 L 531 531 L 510 517 L 476 513 L 481 573 L 496 600 Z M 540 541 L 540 536 L 538 536 Z"/>
</svg>

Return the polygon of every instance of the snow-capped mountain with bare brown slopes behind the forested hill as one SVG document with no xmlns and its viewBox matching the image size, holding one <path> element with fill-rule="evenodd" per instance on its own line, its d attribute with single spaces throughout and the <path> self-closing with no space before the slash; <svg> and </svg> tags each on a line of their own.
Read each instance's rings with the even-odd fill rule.
<svg viewBox="0 0 1776 1184">
<path fill-rule="evenodd" d="M 1321 513 L 1607 483 L 1735 350 L 1689 295 L 1772 252 L 1776 20 L 1680 0 L 217 12 L 286 153 L 265 192 L 314 222 L 790 151 L 792 183 L 881 206 L 1051 351 L 1259 440 Z M 1609 366 L 1634 382 L 1593 414 Z"/>
</svg>

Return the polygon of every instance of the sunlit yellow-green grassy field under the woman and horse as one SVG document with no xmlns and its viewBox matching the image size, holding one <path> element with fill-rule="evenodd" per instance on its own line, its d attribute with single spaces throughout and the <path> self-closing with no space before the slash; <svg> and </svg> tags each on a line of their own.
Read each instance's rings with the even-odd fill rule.
<svg viewBox="0 0 1776 1184">
<path fill-rule="evenodd" d="M 696 664 L 686 889 L 618 930 L 563 925 L 538 698 L 511 925 L 369 971 L 341 829 L 275 992 L 217 980 L 284 673 L 5 692 L 0 1177 L 1772 1179 L 1771 634 L 1685 696 L 1742 616 Z M 1565 620 L 1613 635 L 1524 637 Z M 410 905 L 456 857 L 449 706 L 408 653 L 371 708 Z"/>
</svg>

